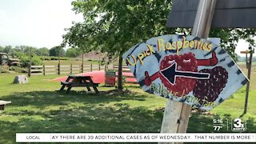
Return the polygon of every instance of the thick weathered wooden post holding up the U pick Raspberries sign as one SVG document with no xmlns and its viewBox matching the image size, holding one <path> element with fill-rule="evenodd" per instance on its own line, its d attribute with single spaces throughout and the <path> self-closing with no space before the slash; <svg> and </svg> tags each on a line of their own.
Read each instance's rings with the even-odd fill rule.
<svg viewBox="0 0 256 144">
<path fill-rule="evenodd" d="M 192 35 L 199 38 L 208 37 L 215 4 L 216 0 L 200 0 Z M 186 103 L 167 99 L 161 133 L 186 133 L 191 107 Z"/>
</svg>

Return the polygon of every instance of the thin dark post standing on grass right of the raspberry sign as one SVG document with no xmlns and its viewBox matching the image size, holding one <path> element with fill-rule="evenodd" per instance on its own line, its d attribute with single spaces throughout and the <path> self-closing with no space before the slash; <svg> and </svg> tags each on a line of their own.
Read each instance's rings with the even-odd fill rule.
<svg viewBox="0 0 256 144">
<path fill-rule="evenodd" d="M 245 109 L 243 111 L 243 114 L 246 114 L 247 106 L 248 106 L 248 97 L 249 97 L 249 91 L 250 91 L 250 71 L 251 71 L 251 63 L 253 60 L 253 50 L 250 50 L 249 53 L 250 53 L 250 59 L 249 59 L 249 63 L 248 63 L 248 79 L 249 79 L 249 81 L 247 82 L 247 85 L 246 85 L 246 102 L 245 102 Z M 246 53 L 246 55 L 247 55 L 247 53 Z M 247 63 L 247 60 L 246 60 L 246 63 Z"/>
</svg>

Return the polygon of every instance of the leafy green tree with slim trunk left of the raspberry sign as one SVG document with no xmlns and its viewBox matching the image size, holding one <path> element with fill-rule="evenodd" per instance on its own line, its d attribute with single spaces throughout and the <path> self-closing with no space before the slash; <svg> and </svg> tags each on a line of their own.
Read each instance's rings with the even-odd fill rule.
<svg viewBox="0 0 256 144">
<path fill-rule="evenodd" d="M 86 29 L 77 26 L 76 30 L 70 29 L 69 32 L 86 32 L 90 35 L 90 43 L 97 45 L 102 52 L 118 55 L 118 89 L 122 89 L 122 54 L 144 38 L 171 31 L 165 26 L 170 0 L 78 0 L 72 4 L 76 13 L 84 15 Z"/>
</svg>

